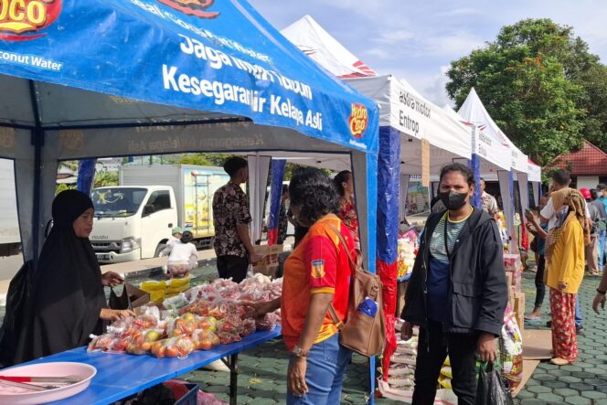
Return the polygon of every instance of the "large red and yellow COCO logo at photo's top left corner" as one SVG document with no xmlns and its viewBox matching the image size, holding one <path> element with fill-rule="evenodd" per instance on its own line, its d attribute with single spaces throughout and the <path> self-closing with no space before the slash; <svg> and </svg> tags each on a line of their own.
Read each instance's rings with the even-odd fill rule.
<svg viewBox="0 0 607 405">
<path fill-rule="evenodd" d="M 0 39 L 24 41 L 42 37 L 61 12 L 61 0 L 0 0 Z"/>
</svg>

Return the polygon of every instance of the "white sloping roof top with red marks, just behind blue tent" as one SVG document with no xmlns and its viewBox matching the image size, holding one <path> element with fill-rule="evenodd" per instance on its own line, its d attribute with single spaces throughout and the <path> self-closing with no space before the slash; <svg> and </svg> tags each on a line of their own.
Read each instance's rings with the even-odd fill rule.
<svg viewBox="0 0 607 405">
<path fill-rule="evenodd" d="M 331 37 L 312 16 L 303 16 L 289 27 L 282 29 L 281 33 L 304 54 L 339 78 L 376 75 L 373 69 Z"/>
</svg>

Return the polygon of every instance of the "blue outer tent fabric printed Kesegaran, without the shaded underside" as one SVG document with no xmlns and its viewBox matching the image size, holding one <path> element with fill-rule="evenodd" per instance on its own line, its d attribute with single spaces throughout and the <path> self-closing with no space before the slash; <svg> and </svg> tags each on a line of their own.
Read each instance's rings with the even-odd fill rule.
<svg viewBox="0 0 607 405">
<path fill-rule="evenodd" d="M 377 105 L 244 0 L 7 0 L 2 73 L 250 118 L 375 152 Z M 10 11 L 10 10 L 9 10 Z"/>
</svg>

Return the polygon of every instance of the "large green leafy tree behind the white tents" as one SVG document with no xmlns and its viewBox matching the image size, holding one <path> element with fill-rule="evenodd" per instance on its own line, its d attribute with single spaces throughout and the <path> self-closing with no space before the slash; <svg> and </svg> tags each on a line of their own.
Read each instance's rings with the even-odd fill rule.
<svg viewBox="0 0 607 405">
<path fill-rule="evenodd" d="M 597 65 L 598 57 L 571 27 L 526 19 L 454 60 L 446 89 L 459 108 L 474 87 L 495 123 L 545 165 L 582 144 L 590 111 L 580 81 Z"/>
</svg>

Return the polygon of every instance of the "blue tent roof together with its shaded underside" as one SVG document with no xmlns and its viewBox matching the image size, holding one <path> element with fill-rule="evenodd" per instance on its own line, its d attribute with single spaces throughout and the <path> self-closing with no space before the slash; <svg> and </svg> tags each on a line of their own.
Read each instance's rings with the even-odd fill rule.
<svg viewBox="0 0 607 405">
<path fill-rule="evenodd" d="M 318 68 L 245 0 L 207 3 L 45 5 L 44 26 L 0 35 L 0 123 L 251 120 L 377 150 L 374 102 Z"/>
</svg>

